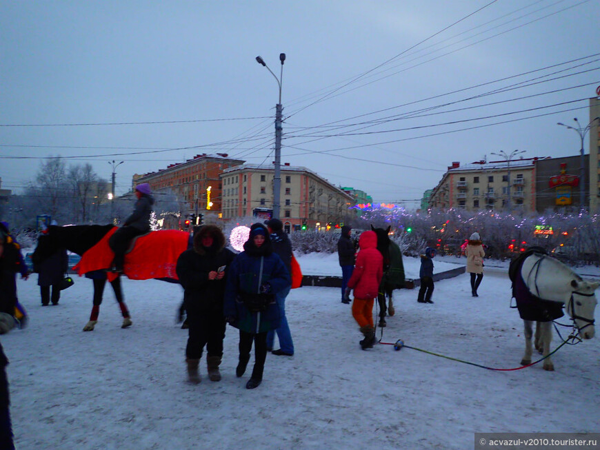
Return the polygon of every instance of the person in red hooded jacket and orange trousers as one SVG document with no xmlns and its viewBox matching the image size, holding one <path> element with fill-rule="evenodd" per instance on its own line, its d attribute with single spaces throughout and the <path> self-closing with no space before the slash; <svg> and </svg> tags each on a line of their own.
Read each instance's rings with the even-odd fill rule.
<svg viewBox="0 0 600 450">
<path fill-rule="evenodd" d="M 383 276 L 383 256 L 377 249 L 377 234 L 370 230 L 361 234 L 359 249 L 354 272 L 348 280 L 346 296 L 350 296 L 349 289 L 354 289 L 352 316 L 365 336 L 360 341 L 361 348 L 365 350 L 372 348 L 375 343 L 373 303 L 379 292 L 379 283 Z"/>
</svg>

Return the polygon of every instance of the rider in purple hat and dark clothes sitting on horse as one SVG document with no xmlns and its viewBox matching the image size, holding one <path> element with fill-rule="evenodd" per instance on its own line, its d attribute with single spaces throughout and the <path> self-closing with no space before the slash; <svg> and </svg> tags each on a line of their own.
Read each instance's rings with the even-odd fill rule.
<svg viewBox="0 0 600 450">
<path fill-rule="evenodd" d="M 152 214 L 152 205 L 154 204 L 151 194 L 148 183 L 141 183 L 135 187 L 137 201 L 133 212 L 126 218 L 123 226 L 108 239 L 108 245 L 114 252 L 114 260 L 110 268 L 112 272 L 123 272 L 123 260 L 130 241 L 135 236 L 150 232 L 150 214 Z"/>
</svg>

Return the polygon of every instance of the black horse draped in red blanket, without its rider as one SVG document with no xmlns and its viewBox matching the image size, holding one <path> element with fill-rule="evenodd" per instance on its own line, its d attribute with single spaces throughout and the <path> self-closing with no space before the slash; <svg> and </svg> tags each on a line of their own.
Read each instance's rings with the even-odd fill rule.
<svg viewBox="0 0 600 450">
<path fill-rule="evenodd" d="M 83 331 L 92 331 L 97 323 L 102 294 L 106 281 L 110 282 L 123 314 L 122 328 L 132 325 L 131 316 L 123 301 L 119 274 L 107 272 L 113 254 L 108 247 L 108 239 L 117 227 L 114 225 L 72 225 L 66 227 L 50 226 L 40 236 L 32 258 L 42 261 L 52 255 L 59 247 L 81 256 L 74 269 L 81 276 L 94 282 L 94 305 L 90 321 Z M 175 265 L 177 258 L 189 245 L 190 235 L 176 230 L 150 232 L 138 236 L 126 254 L 123 274 L 135 280 L 159 278 L 177 283 Z"/>
</svg>

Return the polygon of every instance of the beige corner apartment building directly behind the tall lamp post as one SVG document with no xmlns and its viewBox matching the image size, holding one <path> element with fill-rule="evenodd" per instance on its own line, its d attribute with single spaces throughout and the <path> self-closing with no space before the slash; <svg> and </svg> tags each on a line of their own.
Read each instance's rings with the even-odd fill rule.
<svg viewBox="0 0 600 450">
<path fill-rule="evenodd" d="M 254 209 L 272 207 L 274 169 L 243 164 L 221 174 L 223 219 L 251 216 Z M 287 232 L 307 225 L 348 221 L 354 198 L 306 167 L 281 166 L 279 218 Z"/>
</svg>

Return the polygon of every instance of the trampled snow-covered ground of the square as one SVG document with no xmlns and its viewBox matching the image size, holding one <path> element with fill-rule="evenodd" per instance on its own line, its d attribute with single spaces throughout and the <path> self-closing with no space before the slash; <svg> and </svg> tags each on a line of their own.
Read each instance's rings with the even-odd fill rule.
<svg viewBox="0 0 600 450">
<path fill-rule="evenodd" d="M 299 262 L 305 274 L 340 272 L 336 255 Z M 464 260 L 434 262 L 439 271 Z M 419 261 L 404 263 L 417 278 Z M 37 276 L 18 283 L 30 325 L 1 342 L 19 449 L 464 450 L 479 431 L 598 431 L 598 337 L 562 347 L 554 372 L 541 364 L 491 371 L 392 345 L 362 351 L 339 289 L 302 287 L 287 302 L 296 354 L 268 355 L 259 388 L 245 389 L 248 374 L 234 374 L 238 334 L 230 327 L 223 380 L 208 380 L 203 358 L 203 380 L 193 386 L 184 381 L 187 331 L 174 323 L 179 285 L 124 280 L 130 329 L 120 328 L 107 288 L 96 329 L 84 333 L 90 280 L 77 278 L 56 307 L 41 307 Z M 401 338 L 480 365 L 518 367 L 522 323 L 509 308 L 506 263 L 486 261 L 479 292 L 470 296 L 466 274 L 437 282 L 434 305 L 417 303 L 416 290 L 396 291 L 383 342 Z"/>
</svg>

